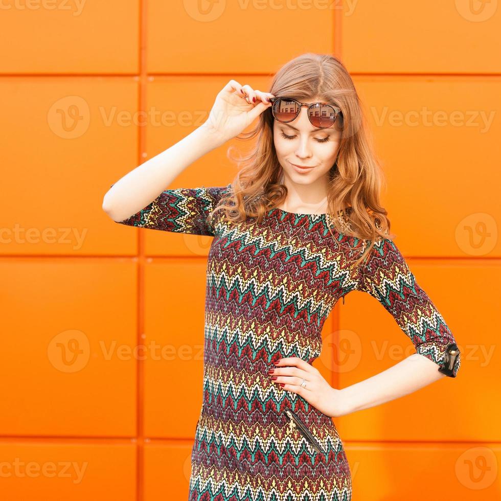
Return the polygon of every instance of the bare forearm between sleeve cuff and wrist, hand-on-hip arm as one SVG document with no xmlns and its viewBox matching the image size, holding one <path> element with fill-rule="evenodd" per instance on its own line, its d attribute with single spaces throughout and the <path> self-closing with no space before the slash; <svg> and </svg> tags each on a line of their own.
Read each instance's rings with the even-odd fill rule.
<svg viewBox="0 0 501 501">
<path fill-rule="evenodd" d="M 445 376 L 438 365 L 417 353 L 363 381 L 340 390 L 345 412 L 350 414 L 394 400 Z"/>
</svg>

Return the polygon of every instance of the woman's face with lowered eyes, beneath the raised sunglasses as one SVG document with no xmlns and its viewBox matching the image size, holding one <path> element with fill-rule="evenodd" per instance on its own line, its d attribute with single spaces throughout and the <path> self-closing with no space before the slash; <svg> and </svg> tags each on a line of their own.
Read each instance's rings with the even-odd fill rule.
<svg viewBox="0 0 501 501">
<path fill-rule="evenodd" d="M 318 99 L 305 102 L 314 103 Z M 308 120 L 306 106 L 287 124 L 274 120 L 273 136 L 277 157 L 284 172 L 284 183 L 309 185 L 325 177 L 336 161 L 341 133 L 338 121 L 329 128 L 316 129 Z M 300 169 L 295 166 L 308 167 Z"/>
</svg>

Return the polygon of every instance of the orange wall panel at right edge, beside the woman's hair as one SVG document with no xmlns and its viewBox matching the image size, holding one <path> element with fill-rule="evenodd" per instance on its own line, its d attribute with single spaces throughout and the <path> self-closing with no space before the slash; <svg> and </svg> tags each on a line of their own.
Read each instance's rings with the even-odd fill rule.
<svg viewBox="0 0 501 501">
<path fill-rule="evenodd" d="M 388 181 L 384 206 L 412 256 L 499 257 L 498 77 L 358 77 Z M 403 251 L 402 251 L 403 252 Z"/>
</svg>

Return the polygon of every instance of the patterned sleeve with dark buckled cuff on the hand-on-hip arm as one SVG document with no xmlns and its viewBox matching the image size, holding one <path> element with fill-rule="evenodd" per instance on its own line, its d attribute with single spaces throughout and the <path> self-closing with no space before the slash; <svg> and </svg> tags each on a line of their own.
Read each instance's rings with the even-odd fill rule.
<svg viewBox="0 0 501 501">
<path fill-rule="evenodd" d="M 461 365 L 456 339 L 393 240 L 376 242 L 368 261 L 358 268 L 357 288 L 371 294 L 393 315 L 417 353 L 437 363 L 443 374 L 456 377 Z"/>
</svg>

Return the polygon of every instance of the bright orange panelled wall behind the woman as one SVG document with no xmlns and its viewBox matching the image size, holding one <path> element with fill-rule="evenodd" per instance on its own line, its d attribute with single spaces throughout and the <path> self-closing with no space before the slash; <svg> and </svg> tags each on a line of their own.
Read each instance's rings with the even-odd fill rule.
<svg viewBox="0 0 501 501">
<path fill-rule="evenodd" d="M 352 73 L 397 245 L 463 353 L 457 379 L 335 420 L 353 498 L 500 499 L 499 33 L 497 2 L 468 0 L 2 2 L 2 499 L 187 498 L 210 239 L 116 224 L 102 198 L 230 78 L 267 90 L 309 51 Z M 231 144 L 172 188 L 228 183 Z M 413 351 L 359 292 L 324 338 L 336 388 Z"/>
</svg>

